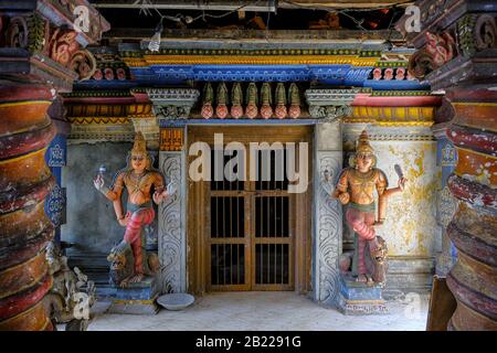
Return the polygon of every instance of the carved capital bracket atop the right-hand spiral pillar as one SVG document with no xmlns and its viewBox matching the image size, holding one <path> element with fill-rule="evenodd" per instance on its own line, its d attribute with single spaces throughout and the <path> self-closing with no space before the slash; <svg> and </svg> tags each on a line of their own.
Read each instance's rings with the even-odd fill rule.
<svg viewBox="0 0 497 353">
<path fill-rule="evenodd" d="M 484 2 L 468 4 L 466 13 L 442 11 L 440 6 L 437 17 L 422 18 L 422 31 L 408 38 L 417 47 L 410 57 L 409 72 L 419 79 L 426 79 L 435 90 L 461 82 L 494 79 L 497 75 L 496 12 L 483 13 L 488 11 Z M 435 1 L 425 1 L 421 11 L 432 9 L 431 12 L 438 13 L 437 7 Z M 463 9 L 463 4 L 452 9 L 455 8 Z M 405 19 L 398 25 L 402 21 Z"/>
</svg>

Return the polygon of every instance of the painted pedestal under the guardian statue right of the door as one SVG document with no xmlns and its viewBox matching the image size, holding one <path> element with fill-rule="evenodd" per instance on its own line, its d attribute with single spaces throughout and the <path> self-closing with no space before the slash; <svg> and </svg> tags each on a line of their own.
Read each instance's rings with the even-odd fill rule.
<svg viewBox="0 0 497 353">
<path fill-rule="evenodd" d="M 389 312 L 379 285 L 357 282 L 349 274 L 340 274 L 338 310 L 346 315 L 385 314 Z"/>
</svg>

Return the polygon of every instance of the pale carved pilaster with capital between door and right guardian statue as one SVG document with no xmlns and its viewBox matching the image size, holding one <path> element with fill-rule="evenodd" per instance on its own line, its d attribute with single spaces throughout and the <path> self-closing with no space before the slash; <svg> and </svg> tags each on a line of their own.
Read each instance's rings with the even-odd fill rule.
<svg viewBox="0 0 497 353">
<path fill-rule="evenodd" d="M 341 122 L 360 89 L 307 89 L 309 113 L 318 122 L 314 151 L 313 291 L 314 300 L 336 306 L 339 293 L 338 258 L 342 250 L 342 214 L 331 199 L 342 169 Z"/>
</svg>

